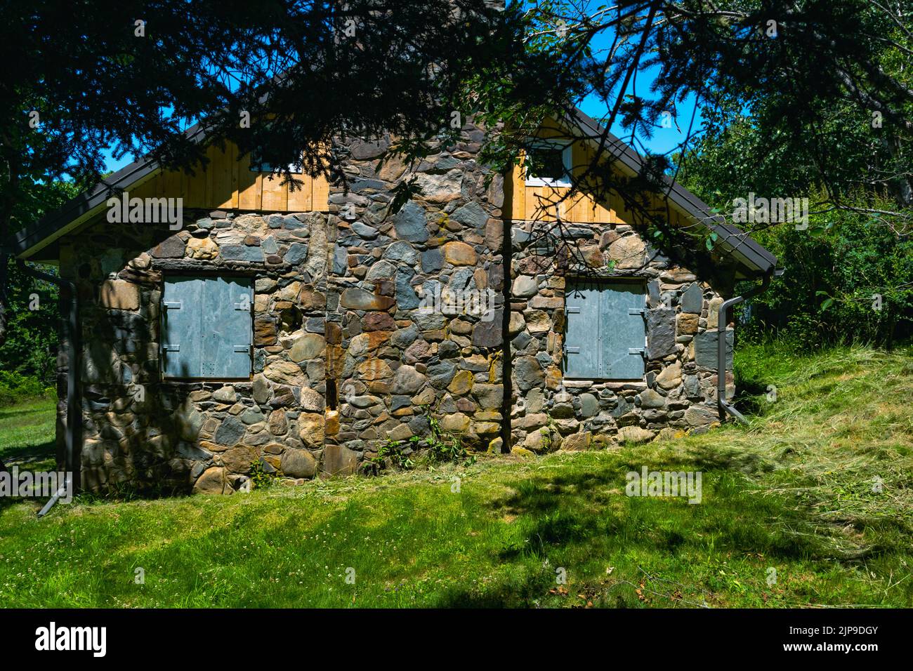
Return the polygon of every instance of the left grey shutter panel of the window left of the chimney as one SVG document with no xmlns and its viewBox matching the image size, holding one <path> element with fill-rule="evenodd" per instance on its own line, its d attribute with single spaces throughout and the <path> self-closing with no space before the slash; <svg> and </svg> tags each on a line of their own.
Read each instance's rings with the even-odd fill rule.
<svg viewBox="0 0 913 671">
<path fill-rule="evenodd" d="M 162 296 L 162 369 L 165 377 L 200 376 L 202 278 L 169 278 Z"/>
</svg>

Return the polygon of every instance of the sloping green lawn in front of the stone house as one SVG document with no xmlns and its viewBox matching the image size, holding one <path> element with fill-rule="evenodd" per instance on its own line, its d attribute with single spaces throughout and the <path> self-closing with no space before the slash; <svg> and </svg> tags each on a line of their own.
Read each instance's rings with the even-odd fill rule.
<svg viewBox="0 0 913 671">
<path fill-rule="evenodd" d="M 910 352 L 753 349 L 737 366 L 748 427 L 227 498 L 84 498 L 41 520 L 34 502 L 0 508 L 0 603 L 913 605 Z M 626 497 L 643 465 L 701 471 L 702 502 Z"/>
</svg>

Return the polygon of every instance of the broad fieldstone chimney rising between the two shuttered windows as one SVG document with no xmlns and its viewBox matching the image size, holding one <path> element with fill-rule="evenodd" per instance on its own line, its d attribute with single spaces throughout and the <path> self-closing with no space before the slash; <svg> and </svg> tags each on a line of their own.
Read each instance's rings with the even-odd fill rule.
<svg viewBox="0 0 913 671">
<path fill-rule="evenodd" d="M 340 428 L 326 449 L 348 470 L 388 440 L 427 435 L 429 414 L 471 446 L 500 430 L 503 189 L 476 161 L 482 131 L 462 136 L 415 165 L 382 163 L 387 139 L 341 144 L 349 193 L 331 188 L 327 314 Z M 391 215 L 394 187 L 412 180 Z M 422 309 L 442 291 L 485 296 L 491 309 Z"/>
</svg>

